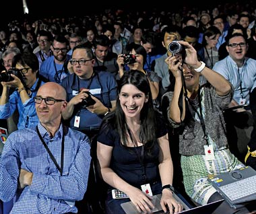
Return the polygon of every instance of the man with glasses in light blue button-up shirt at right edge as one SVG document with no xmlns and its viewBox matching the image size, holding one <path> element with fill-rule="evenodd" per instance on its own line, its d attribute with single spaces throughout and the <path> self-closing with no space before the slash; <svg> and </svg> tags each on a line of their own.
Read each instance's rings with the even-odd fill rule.
<svg viewBox="0 0 256 214">
<path fill-rule="evenodd" d="M 256 86 L 256 61 L 245 57 L 248 49 L 243 34 L 226 37 L 228 57 L 218 61 L 213 70 L 234 85 L 234 98 L 229 107 L 249 104 L 249 94 Z"/>
</svg>

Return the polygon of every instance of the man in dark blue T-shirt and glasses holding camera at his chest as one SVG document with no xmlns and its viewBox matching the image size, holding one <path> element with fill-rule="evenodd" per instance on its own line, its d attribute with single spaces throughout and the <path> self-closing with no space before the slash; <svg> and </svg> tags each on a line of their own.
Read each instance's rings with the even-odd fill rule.
<svg viewBox="0 0 256 214">
<path fill-rule="evenodd" d="M 71 129 L 82 131 L 92 139 L 98 133 L 105 114 L 115 109 L 117 81 L 106 71 L 94 71 L 94 55 L 86 44 L 73 48 L 74 73 L 63 79 L 67 92 L 67 108 L 63 118 Z"/>
</svg>

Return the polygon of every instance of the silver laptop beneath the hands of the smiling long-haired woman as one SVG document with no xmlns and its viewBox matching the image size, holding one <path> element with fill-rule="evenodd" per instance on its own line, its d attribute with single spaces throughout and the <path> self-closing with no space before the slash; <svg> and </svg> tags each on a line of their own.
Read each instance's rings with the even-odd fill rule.
<svg viewBox="0 0 256 214">
<path fill-rule="evenodd" d="M 164 213 L 164 211 L 162 210 L 162 207 L 160 205 L 161 196 L 162 196 L 162 194 L 156 194 L 153 196 L 153 204 L 154 204 L 155 208 L 152 209 L 152 213 L 154 213 L 154 214 Z M 177 194 L 173 193 L 173 197 L 174 197 L 174 199 L 179 201 L 179 203 L 181 203 L 181 205 L 183 205 L 183 210 L 186 211 L 191 208 L 191 205 L 187 205 L 187 203 L 185 203 L 181 198 L 179 198 L 177 196 Z M 135 205 L 133 205 L 133 203 L 131 201 L 122 203 L 121 207 L 123 208 L 123 210 L 125 211 L 126 214 L 140 214 L 137 211 Z"/>
</svg>

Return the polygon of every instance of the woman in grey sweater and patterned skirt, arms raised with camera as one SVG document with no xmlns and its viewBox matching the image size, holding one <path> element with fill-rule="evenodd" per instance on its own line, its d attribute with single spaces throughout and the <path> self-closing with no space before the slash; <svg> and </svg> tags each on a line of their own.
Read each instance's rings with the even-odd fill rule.
<svg viewBox="0 0 256 214">
<path fill-rule="evenodd" d="M 205 205 L 223 199 L 207 180 L 209 175 L 244 167 L 228 149 L 222 113 L 232 100 L 234 87 L 222 75 L 198 61 L 191 44 L 179 42 L 185 46 L 186 56 L 185 60 L 180 55 L 166 58 L 175 84 L 173 92 L 162 96 L 162 112 L 170 127 L 179 134 L 185 190 L 195 204 Z M 199 85 L 200 75 L 208 83 Z M 234 211 L 226 201 L 220 209 L 216 213 Z"/>
</svg>

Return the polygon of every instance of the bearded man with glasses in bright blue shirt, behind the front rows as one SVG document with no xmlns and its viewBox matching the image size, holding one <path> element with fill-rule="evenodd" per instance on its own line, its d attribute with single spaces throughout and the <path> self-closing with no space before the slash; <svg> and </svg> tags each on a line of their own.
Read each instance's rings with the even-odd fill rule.
<svg viewBox="0 0 256 214">
<path fill-rule="evenodd" d="M 67 64 L 70 57 L 67 55 L 67 44 L 65 36 L 55 36 L 51 45 L 53 56 L 47 58 L 40 66 L 39 73 L 45 78 L 44 81 L 61 83 L 62 79 L 69 75 Z"/>
</svg>

